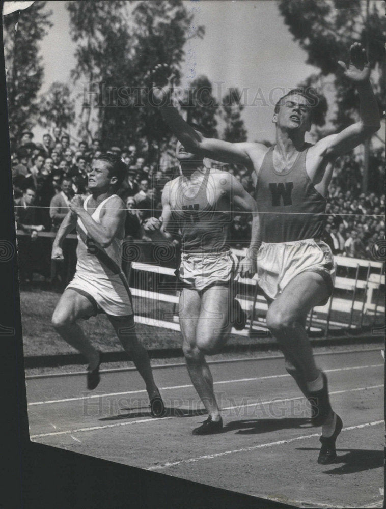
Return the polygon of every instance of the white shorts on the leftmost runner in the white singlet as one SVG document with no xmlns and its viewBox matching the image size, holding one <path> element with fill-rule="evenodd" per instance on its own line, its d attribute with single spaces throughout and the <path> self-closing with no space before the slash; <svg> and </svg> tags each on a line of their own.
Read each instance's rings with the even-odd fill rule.
<svg viewBox="0 0 386 509">
<path fill-rule="evenodd" d="M 123 273 L 107 276 L 105 273 L 77 270 L 67 288 L 90 300 L 95 308 L 90 316 L 98 313 L 120 317 L 133 315 L 131 292 Z"/>
</svg>

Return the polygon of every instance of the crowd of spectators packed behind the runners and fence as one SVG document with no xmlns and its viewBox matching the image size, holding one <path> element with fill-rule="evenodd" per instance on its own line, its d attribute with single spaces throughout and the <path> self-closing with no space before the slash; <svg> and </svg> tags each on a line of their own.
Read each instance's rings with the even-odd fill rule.
<svg viewBox="0 0 386 509">
<path fill-rule="evenodd" d="M 86 196 L 87 172 L 93 159 L 102 151 L 119 155 L 127 166 L 127 174 L 119 191 L 127 208 L 126 236 L 131 241 L 150 242 L 141 223 L 146 217 L 159 215 L 163 186 L 176 175 L 176 167 L 157 167 L 147 163 L 146 154 L 139 153 L 133 144 L 127 147 L 104 147 L 100 139 L 94 138 L 71 142 L 70 136 L 60 128 L 52 134 L 45 133 L 42 143 L 34 143 L 32 132 L 24 131 L 18 143 L 11 144 L 12 181 L 15 197 L 17 229 L 31 240 L 39 232 L 56 232 L 68 212 L 68 203 L 76 194 Z M 213 162 L 216 166 L 216 163 Z M 232 173 L 242 186 L 254 193 L 251 176 L 244 167 L 217 165 Z M 352 258 L 374 258 L 374 246 L 384 240 L 385 195 L 374 192 L 365 194 L 353 188 L 348 174 L 345 186 L 342 172 L 330 186 L 327 203 L 326 227 L 323 239 L 333 250 Z M 250 215 L 234 211 L 230 226 L 230 243 L 235 248 L 249 244 L 251 236 Z M 51 236 L 52 237 L 52 236 Z M 19 245 L 22 248 L 23 242 Z M 31 246 L 27 248 L 31 258 Z M 37 252 L 39 258 L 40 254 Z M 70 263 L 73 270 L 73 263 Z M 64 281 L 70 277 L 61 275 Z M 25 279 L 31 278 L 26 271 Z M 31 271 L 30 271 L 31 272 Z M 49 275 L 56 276 L 55 271 Z"/>
</svg>

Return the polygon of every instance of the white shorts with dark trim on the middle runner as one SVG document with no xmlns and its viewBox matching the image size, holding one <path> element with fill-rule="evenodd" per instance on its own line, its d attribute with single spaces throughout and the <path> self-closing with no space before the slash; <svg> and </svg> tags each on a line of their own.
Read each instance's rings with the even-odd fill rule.
<svg viewBox="0 0 386 509">
<path fill-rule="evenodd" d="M 211 286 L 229 286 L 236 276 L 238 259 L 232 251 L 181 253 L 176 274 L 182 286 L 201 292 Z"/>
</svg>

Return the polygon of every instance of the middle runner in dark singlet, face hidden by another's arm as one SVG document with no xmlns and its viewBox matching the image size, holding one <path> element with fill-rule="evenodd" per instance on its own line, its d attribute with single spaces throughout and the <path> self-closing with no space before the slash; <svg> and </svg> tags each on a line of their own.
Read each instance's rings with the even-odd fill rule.
<svg viewBox="0 0 386 509">
<path fill-rule="evenodd" d="M 149 218 L 144 229 L 159 230 L 167 238 L 173 231 L 182 236 L 179 278 L 179 322 L 183 352 L 191 381 L 209 417 L 193 430 L 194 435 L 219 432 L 223 427 L 213 391 L 213 378 L 205 354 L 218 353 L 232 323 L 241 311 L 234 299 L 233 280 L 238 260 L 226 246 L 233 206 L 253 212 L 251 247 L 258 233 L 256 202 L 229 173 L 206 168 L 202 158 L 177 143 L 181 175 L 162 192 L 162 216 Z"/>
</svg>

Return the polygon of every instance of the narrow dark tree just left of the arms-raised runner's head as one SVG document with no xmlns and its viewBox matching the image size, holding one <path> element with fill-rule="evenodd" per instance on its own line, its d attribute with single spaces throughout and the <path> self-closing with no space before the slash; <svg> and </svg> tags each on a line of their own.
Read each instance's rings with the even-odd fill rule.
<svg viewBox="0 0 386 509">
<path fill-rule="evenodd" d="M 225 121 L 223 139 L 226 142 L 246 142 L 247 131 L 244 128 L 244 121 L 241 119 L 244 105 L 240 101 L 240 91 L 234 88 L 228 89 L 228 93 L 223 97 L 221 116 Z"/>
</svg>

